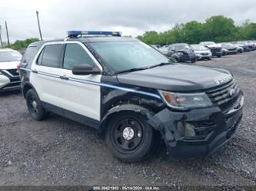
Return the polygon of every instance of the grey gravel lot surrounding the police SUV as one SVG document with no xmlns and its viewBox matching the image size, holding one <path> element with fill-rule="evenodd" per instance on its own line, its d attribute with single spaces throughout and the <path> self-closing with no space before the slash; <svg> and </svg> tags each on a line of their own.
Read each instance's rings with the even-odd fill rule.
<svg viewBox="0 0 256 191">
<path fill-rule="evenodd" d="M 256 51 L 198 61 L 234 74 L 245 94 L 234 138 L 204 160 L 174 160 L 161 147 L 151 159 L 121 163 L 96 130 L 51 115 L 29 117 L 20 93 L 0 94 L 0 185 L 256 185 Z"/>
</svg>

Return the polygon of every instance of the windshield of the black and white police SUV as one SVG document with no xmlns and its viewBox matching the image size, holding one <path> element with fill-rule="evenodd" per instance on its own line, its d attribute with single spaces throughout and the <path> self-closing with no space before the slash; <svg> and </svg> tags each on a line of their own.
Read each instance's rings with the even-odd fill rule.
<svg viewBox="0 0 256 191">
<path fill-rule="evenodd" d="M 141 41 L 94 42 L 91 46 L 116 73 L 169 62 L 163 54 Z"/>
</svg>

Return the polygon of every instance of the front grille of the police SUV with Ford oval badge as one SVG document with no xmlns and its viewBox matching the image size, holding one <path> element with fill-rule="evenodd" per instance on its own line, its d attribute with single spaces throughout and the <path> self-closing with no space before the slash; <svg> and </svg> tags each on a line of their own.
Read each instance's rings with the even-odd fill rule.
<svg viewBox="0 0 256 191">
<path fill-rule="evenodd" d="M 231 89 L 235 90 L 235 94 L 233 96 L 230 95 Z M 236 103 L 240 92 L 241 91 L 238 89 L 236 82 L 230 81 L 228 84 L 224 84 L 212 91 L 208 91 L 207 94 L 211 101 L 214 104 L 217 104 L 221 110 L 227 111 Z"/>
</svg>

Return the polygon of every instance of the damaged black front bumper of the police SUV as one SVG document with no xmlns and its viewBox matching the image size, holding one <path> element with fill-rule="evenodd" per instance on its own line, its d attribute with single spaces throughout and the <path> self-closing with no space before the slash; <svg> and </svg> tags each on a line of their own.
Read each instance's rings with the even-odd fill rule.
<svg viewBox="0 0 256 191">
<path fill-rule="evenodd" d="M 202 108 L 186 112 L 165 108 L 148 120 L 161 132 L 168 153 L 178 159 L 204 157 L 227 143 L 238 129 L 242 117 L 244 96 L 226 111 L 219 107 Z M 178 123 L 194 128 L 192 136 L 181 135 Z"/>
</svg>

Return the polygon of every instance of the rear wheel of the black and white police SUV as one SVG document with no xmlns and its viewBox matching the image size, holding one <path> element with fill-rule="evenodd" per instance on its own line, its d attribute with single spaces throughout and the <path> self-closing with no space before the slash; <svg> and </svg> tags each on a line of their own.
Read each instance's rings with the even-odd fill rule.
<svg viewBox="0 0 256 191">
<path fill-rule="evenodd" d="M 28 111 L 34 120 L 43 120 L 47 116 L 42 102 L 36 94 L 35 90 L 30 89 L 26 94 Z"/>
</svg>

